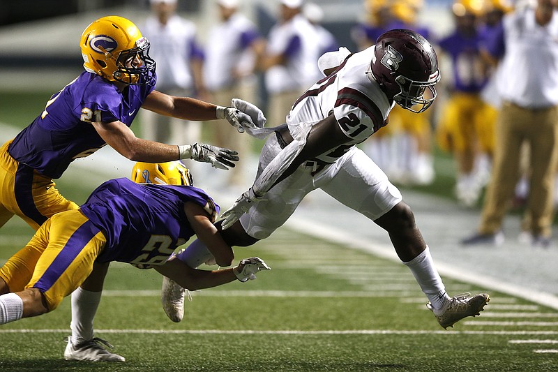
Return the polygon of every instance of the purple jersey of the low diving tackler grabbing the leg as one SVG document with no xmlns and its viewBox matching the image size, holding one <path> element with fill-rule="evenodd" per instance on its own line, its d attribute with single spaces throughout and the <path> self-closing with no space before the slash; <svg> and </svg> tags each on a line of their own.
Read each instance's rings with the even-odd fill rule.
<svg viewBox="0 0 558 372">
<path fill-rule="evenodd" d="M 219 211 L 199 188 L 136 184 L 126 178 L 101 184 L 80 210 L 107 238 L 98 261 L 160 265 L 194 235 L 184 214 L 186 202 L 199 204 L 213 216 Z"/>
</svg>

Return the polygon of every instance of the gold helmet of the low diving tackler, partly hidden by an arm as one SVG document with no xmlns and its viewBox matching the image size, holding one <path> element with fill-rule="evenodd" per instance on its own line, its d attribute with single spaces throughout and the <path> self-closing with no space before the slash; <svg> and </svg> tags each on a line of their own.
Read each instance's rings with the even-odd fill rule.
<svg viewBox="0 0 558 372">
<path fill-rule="evenodd" d="M 138 184 L 193 186 L 190 170 L 181 161 L 167 163 L 142 163 L 132 169 L 132 181 Z"/>
</svg>

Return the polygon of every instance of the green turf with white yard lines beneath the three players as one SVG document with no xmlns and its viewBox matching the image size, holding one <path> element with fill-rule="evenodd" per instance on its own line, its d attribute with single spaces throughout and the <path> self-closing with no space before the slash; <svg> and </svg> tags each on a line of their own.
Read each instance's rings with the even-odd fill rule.
<svg viewBox="0 0 558 372">
<path fill-rule="evenodd" d="M 12 221 L 6 230 L 3 259 L 28 229 Z M 181 323 L 163 313 L 155 271 L 112 264 L 96 329 L 123 364 L 63 360 L 65 299 L 50 314 L 0 327 L 0 371 L 556 370 L 558 313 L 543 306 L 446 280 L 452 293 L 488 291 L 492 301 L 444 331 L 396 262 L 286 228 L 236 255 L 259 255 L 272 270 L 195 292 Z"/>
</svg>

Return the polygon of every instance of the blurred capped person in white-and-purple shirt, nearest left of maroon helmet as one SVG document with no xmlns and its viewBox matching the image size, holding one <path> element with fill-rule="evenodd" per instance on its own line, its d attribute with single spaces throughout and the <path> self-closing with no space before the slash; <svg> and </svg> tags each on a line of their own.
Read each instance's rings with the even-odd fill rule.
<svg viewBox="0 0 558 372">
<path fill-rule="evenodd" d="M 269 94 L 266 117 L 273 125 L 285 123 L 292 103 L 319 73 L 318 36 L 301 14 L 302 6 L 302 0 L 281 0 L 280 20 L 269 31 L 266 53 L 259 64 L 265 71 Z"/>
</svg>

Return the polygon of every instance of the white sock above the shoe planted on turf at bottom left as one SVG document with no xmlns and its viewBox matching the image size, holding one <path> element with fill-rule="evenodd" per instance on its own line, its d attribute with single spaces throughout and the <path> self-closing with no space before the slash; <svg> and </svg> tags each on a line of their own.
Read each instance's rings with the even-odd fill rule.
<svg viewBox="0 0 558 372">
<path fill-rule="evenodd" d="M 78 287 L 72 292 L 72 343 L 76 345 L 93 338 L 93 318 L 102 292 L 91 292 Z"/>
</svg>

